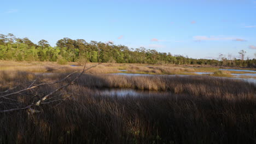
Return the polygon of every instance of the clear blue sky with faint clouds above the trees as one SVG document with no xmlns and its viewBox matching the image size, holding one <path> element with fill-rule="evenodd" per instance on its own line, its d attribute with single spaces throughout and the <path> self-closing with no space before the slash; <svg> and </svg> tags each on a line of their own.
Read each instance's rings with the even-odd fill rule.
<svg viewBox="0 0 256 144">
<path fill-rule="evenodd" d="M 192 58 L 256 53 L 256 0 L 1 0 L 0 17 L 1 34 L 51 46 L 67 37 Z"/>
</svg>

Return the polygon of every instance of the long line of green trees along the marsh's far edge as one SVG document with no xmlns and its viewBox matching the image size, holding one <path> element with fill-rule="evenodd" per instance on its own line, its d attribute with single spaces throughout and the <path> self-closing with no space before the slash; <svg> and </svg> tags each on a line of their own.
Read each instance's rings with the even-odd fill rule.
<svg viewBox="0 0 256 144">
<path fill-rule="evenodd" d="M 181 55 L 171 55 L 170 52 L 139 47 L 129 49 L 125 45 L 114 45 L 111 42 L 86 42 L 84 39 L 63 38 L 52 47 L 48 41 L 40 40 L 34 44 L 28 38 L 16 38 L 13 34 L 0 34 L 0 59 L 5 61 L 58 61 L 77 62 L 86 59 L 90 62 L 116 62 L 116 63 L 148 63 L 148 64 L 200 64 L 230 67 L 256 67 L 256 59 L 246 59 L 245 51 L 239 52 L 241 59 L 195 59 Z"/>
</svg>

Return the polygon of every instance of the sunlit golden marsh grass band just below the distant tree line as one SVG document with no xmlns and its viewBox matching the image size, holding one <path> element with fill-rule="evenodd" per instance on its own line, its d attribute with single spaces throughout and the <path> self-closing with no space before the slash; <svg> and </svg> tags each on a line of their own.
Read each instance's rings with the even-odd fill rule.
<svg viewBox="0 0 256 144">
<path fill-rule="evenodd" d="M 96 63 L 88 63 L 88 65 L 94 65 Z M 57 62 L 12 62 L 12 61 L 0 61 L 0 70 L 22 70 L 25 69 L 25 71 L 30 70 L 31 72 L 42 72 L 44 70 L 44 66 L 49 67 L 69 67 L 70 65 L 81 65 L 78 62 L 68 62 L 66 65 L 60 65 L 57 64 Z M 129 64 L 129 63 L 103 63 L 101 64 L 107 69 L 113 69 L 113 70 L 107 70 L 107 73 L 119 73 L 118 70 L 127 70 L 127 73 L 129 71 L 131 73 L 143 72 L 144 74 L 184 74 L 187 72 L 208 72 L 213 73 L 214 71 L 219 70 L 219 68 L 223 67 L 210 67 L 210 66 L 198 66 L 198 65 L 148 65 L 148 64 Z M 42 66 L 41 68 L 37 68 L 39 66 Z M 194 67 L 193 67 L 194 66 Z M 81 67 L 79 67 L 81 68 Z M 69 69 L 72 69 L 69 68 Z M 74 68 L 73 69 L 77 69 Z M 114 70 L 115 69 L 115 70 Z M 232 69 L 232 68 L 230 68 Z M 238 68 L 236 68 L 238 69 Z M 241 69 L 241 68 L 240 68 Z M 254 69 L 255 70 L 255 69 Z M 255 74 L 254 72 L 249 71 L 230 71 L 231 74 Z M 187 75 L 187 74 L 186 74 Z M 190 75 L 190 74 L 189 74 Z"/>
</svg>

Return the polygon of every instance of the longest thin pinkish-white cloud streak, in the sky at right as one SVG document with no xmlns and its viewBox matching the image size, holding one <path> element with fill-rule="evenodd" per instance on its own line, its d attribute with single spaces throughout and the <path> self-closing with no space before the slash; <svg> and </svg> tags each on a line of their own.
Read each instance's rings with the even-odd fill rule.
<svg viewBox="0 0 256 144">
<path fill-rule="evenodd" d="M 233 41 L 246 41 L 245 39 L 239 39 L 239 38 L 234 38 L 234 37 L 216 37 L 216 36 L 194 36 L 193 37 L 194 41 L 206 41 L 206 40 L 233 40 Z"/>
</svg>

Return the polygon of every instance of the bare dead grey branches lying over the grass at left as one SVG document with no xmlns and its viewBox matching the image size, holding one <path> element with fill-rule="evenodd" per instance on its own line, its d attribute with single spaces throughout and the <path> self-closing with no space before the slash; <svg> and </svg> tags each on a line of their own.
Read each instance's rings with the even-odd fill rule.
<svg viewBox="0 0 256 144">
<path fill-rule="evenodd" d="M 67 98 L 60 98 L 60 99 L 57 99 L 57 100 L 51 100 L 51 101 L 47 101 L 47 102 L 43 102 L 43 101 L 45 101 L 46 99 L 48 99 L 49 97 L 51 97 L 53 94 L 55 94 L 56 92 L 61 91 L 62 89 L 67 88 L 68 86 L 72 85 L 77 79 L 79 79 L 79 77 L 80 77 L 83 73 L 85 73 L 86 70 L 89 70 L 89 69 L 91 69 L 91 68 L 94 68 L 94 67 L 96 67 L 96 66 L 99 65 L 99 64 L 101 64 L 101 63 L 98 63 L 98 64 L 93 65 L 92 67 L 89 67 L 89 68 L 86 68 L 86 69 L 85 69 L 85 67 L 86 67 L 86 64 L 85 64 L 85 65 L 84 65 L 84 68 L 83 68 L 83 70 L 82 70 L 82 72 L 81 72 L 78 76 L 76 76 L 71 82 L 68 82 L 66 85 L 60 86 L 60 87 L 58 87 L 57 89 L 55 89 L 54 91 L 52 91 L 52 92 L 46 94 L 44 97 L 42 97 L 42 98 L 40 98 L 39 100 L 37 100 L 36 103 L 32 103 L 32 104 L 27 105 L 27 106 L 24 106 L 24 107 L 17 107 L 17 108 L 14 108 L 14 109 L 0 110 L 0 113 L 3 113 L 3 112 L 11 112 L 11 111 L 18 111 L 18 110 L 27 110 L 27 109 L 30 110 L 30 111 L 33 113 L 33 112 L 36 112 L 37 110 L 32 109 L 32 106 L 39 106 L 40 104 L 54 103 L 55 101 L 63 101 L 63 100 L 65 100 L 65 99 L 69 98 L 69 97 L 67 97 Z M 31 89 L 34 89 L 34 88 L 37 88 L 37 87 L 41 87 L 41 86 L 45 86 L 45 85 L 53 85 L 53 84 L 56 84 L 56 83 L 63 82 L 63 81 L 65 81 L 65 80 L 67 80 L 71 75 L 73 75 L 74 73 L 77 73 L 77 72 L 78 72 L 78 71 L 74 71 L 73 73 L 68 74 L 66 77 L 64 77 L 63 79 L 61 79 L 61 80 L 59 80 L 59 81 L 54 81 L 54 82 L 49 82 L 49 83 L 40 83 L 40 84 L 38 84 L 38 85 L 34 85 L 34 82 L 36 82 L 37 79 L 36 79 L 36 80 L 33 80 L 33 81 L 30 83 L 30 86 L 28 86 L 27 88 L 21 89 L 20 91 L 16 91 L 16 92 L 12 92 L 12 93 L 8 93 L 8 94 L 0 95 L 0 99 L 2 98 L 2 99 L 8 99 L 8 100 L 14 100 L 14 101 L 16 101 L 15 99 L 10 99 L 10 98 L 8 98 L 8 97 L 9 97 L 10 95 L 14 95 L 14 94 L 21 94 L 22 92 L 25 92 L 25 91 L 28 91 L 28 90 L 31 90 Z M 8 84 L 9 84 L 9 83 L 8 83 Z M 33 85 L 34 85 L 34 86 L 33 86 Z M 20 85 L 19 85 L 19 86 L 20 86 Z M 6 91 L 1 92 L 0 94 L 7 93 L 7 92 L 9 92 L 11 89 L 14 89 L 14 88 L 19 87 L 19 86 L 15 86 L 15 87 L 13 87 L 13 88 L 9 88 L 9 89 L 7 89 Z M 60 94 L 59 97 L 62 96 L 62 95 L 66 95 L 66 94 Z M 49 98 L 49 99 L 50 99 L 50 98 Z M 0 101 L 0 104 L 1 104 L 1 103 L 3 103 L 3 101 Z"/>
</svg>

